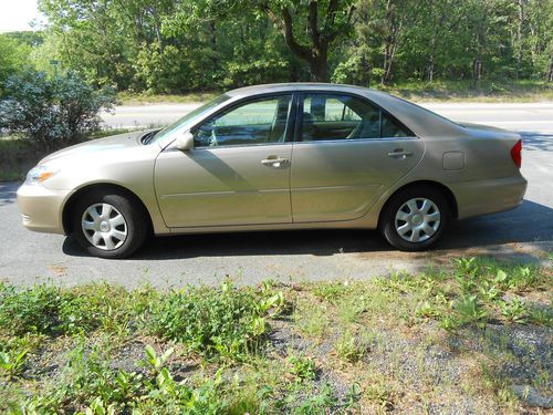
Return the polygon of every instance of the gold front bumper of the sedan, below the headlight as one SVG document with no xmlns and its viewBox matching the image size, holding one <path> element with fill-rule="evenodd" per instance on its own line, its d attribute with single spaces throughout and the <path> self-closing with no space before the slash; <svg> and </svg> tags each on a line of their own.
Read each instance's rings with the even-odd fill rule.
<svg viewBox="0 0 553 415">
<path fill-rule="evenodd" d="M 18 189 L 18 206 L 23 226 L 38 232 L 64 235 L 62 211 L 70 193 L 22 185 Z"/>
</svg>

